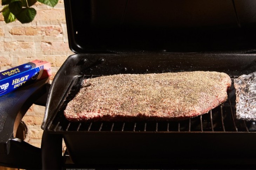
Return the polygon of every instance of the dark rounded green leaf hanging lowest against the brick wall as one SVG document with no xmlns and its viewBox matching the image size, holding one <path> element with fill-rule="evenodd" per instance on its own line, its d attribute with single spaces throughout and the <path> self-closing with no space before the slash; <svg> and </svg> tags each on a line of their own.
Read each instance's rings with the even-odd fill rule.
<svg viewBox="0 0 256 170">
<path fill-rule="evenodd" d="M 22 8 L 21 12 L 16 15 L 16 18 L 21 22 L 21 23 L 28 23 L 33 21 L 35 18 L 36 11 L 34 8 Z"/>
</svg>

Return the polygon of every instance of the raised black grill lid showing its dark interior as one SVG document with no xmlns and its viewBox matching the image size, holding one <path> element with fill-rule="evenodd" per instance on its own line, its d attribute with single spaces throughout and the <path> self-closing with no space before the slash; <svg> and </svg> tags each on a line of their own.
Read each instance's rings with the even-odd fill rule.
<svg viewBox="0 0 256 170">
<path fill-rule="evenodd" d="M 65 0 L 76 53 L 254 52 L 251 0 Z"/>
</svg>

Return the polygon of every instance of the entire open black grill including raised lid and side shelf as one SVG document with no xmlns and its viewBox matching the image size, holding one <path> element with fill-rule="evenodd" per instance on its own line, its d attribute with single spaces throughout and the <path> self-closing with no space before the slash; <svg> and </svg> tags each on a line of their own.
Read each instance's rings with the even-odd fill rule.
<svg viewBox="0 0 256 170">
<path fill-rule="evenodd" d="M 246 6 L 256 4 L 65 0 L 69 47 L 76 54 L 50 86 L 44 80 L 0 98 L 22 99 L 15 109 L 0 108 L 11 115 L 0 121 L 0 163 L 25 169 L 254 169 L 256 125 L 236 119 L 234 89 L 234 79 L 256 71 L 256 22 Z M 70 122 L 63 115 L 85 79 L 198 70 L 227 73 L 233 82 L 228 100 L 207 114 L 169 122 Z M 41 149 L 13 137 L 15 117 L 33 102 L 46 106 Z"/>
</svg>

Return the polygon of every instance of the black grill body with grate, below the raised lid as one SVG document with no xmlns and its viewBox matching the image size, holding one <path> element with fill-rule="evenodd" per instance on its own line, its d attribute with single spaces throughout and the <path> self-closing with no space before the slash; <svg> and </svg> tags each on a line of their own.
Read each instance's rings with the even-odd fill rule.
<svg viewBox="0 0 256 170">
<path fill-rule="evenodd" d="M 233 80 L 237 74 L 252 72 L 256 67 L 254 60 L 254 54 L 76 54 L 67 59 L 55 76 L 42 128 L 61 134 L 72 162 L 81 166 L 251 167 L 256 160 L 252 147 L 256 128 L 253 122 L 236 120 L 233 85 L 222 106 L 180 122 L 74 123 L 66 120 L 63 110 L 86 78 L 173 69 L 225 72 Z"/>
</svg>

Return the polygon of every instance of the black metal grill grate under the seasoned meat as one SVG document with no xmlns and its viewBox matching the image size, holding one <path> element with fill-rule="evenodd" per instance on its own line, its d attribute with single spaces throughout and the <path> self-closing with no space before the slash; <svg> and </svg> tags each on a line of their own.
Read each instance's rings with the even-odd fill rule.
<svg viewBox="0 0 256 170">
<path fill-rule="evenodd" d="M 63 115 L 67 103 L 72 100 L 82 80 L 100 75 L 76 77 L 59 106 L 59 111 L 48 124 L 47 130 L 59 132 L 252 132 L 255 122 L 236 119 L 234 84 L 229 89 L 228 100 L 207 114 L 178 122 L 69 122 Z M 233 82 L 236 76 L 231 77 Z"/>
</svg>

